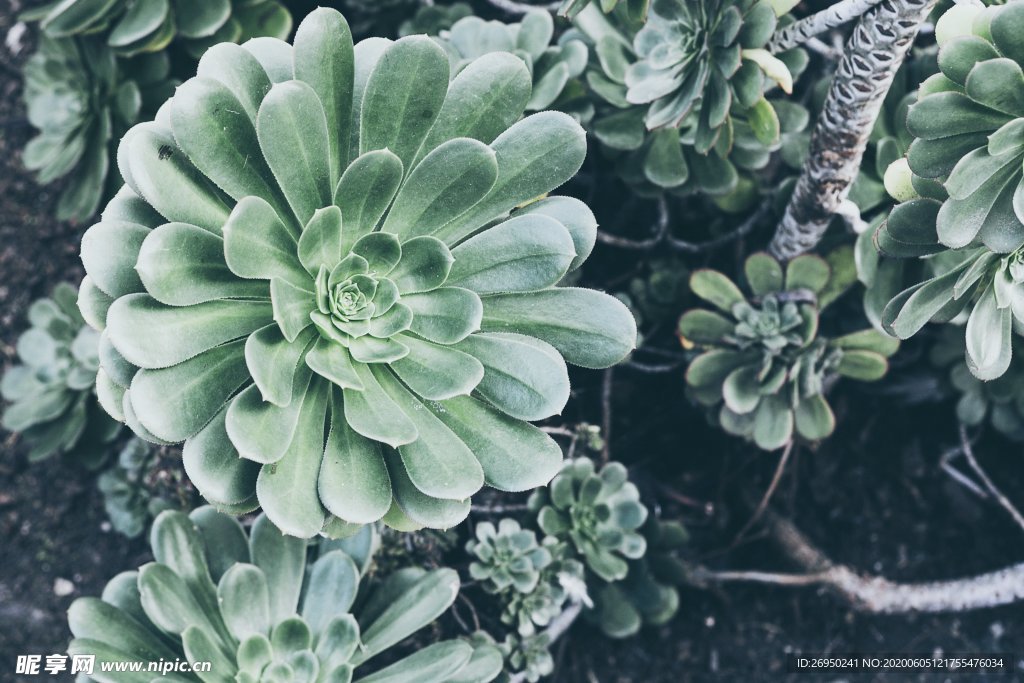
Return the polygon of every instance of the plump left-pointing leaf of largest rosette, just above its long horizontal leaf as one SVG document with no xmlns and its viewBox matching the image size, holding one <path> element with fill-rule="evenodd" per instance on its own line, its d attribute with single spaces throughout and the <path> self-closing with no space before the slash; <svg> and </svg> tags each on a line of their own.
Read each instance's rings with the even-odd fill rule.
<svg viewBox="0 0 1024 683">
<path fill-rule="evenodd" d="M 135 266 L 145 291 L 161 303 L 190 306 L 215 299 L 265 299 L 265 283 L 241 280 L 224 261 L 224 241 L 186 223 L 150 232 Z"/>
</svg>

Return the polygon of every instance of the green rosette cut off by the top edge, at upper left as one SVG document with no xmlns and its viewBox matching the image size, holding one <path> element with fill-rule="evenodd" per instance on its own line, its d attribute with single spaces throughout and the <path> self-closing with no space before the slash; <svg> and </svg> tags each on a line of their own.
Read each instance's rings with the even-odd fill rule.
<svg viewBox="0 0 1024 683">
<path fill-rule="evenodd" d="M 285 39 L 292 15 L 276 0 L 58 0 L 27 12 L 53 38 L 98 34 L 117 54 L 159 52 L 172 42 L 199 58 L 212 45 Z"/>
</svg>

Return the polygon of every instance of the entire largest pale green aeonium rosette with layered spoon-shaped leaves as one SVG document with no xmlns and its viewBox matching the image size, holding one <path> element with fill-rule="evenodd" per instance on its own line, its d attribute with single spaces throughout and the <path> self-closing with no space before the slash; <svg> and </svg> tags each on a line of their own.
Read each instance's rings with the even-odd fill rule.
<svg viewBox="0 0 1024 683">
<path fill-rule="evenodd" d="M 527 421 L 565 404 L 566 361 L 633 348 L 618 301 L 555 287 L 591 212 L 534 201 L 580 168 L 583 129 L 521 119 L 512 54 L 449 76 L 432 40 L 353 47 L 318 9 L 294 46 L 211 48 L 122 140 L 126 187 L 82 243 L 97 389 L 138 435 L 184 441 L 218 507 L 300 537 L 452 526 L 484 483 L 558 471 Z"/>
</svg>

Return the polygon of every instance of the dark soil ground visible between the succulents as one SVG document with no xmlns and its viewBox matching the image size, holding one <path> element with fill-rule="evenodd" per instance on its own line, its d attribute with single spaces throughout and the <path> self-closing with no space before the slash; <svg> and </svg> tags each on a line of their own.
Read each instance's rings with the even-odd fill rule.
<svg viewBox="0 0 1024 683">
<path fill-rule="evenodd" d="M 8 0 L 0 7 L 0 37 L 12 26 L 11 4 Z M 24 121 L 18 81 L 30 43 L 31 36 L 17 54 L 0 47 L 4 368 L 13 358 L 29 303 L 55 283 L 77 282 L 82 274 L 77 251 L 85 226 L 55 221 L 55 188 L 36 185 L 19 162 L 19 151 L 32 134 Z M 586 193 L 583 185 L 575 189 Z M 616 200 L 621 198 L 610 199 Z M 613 215 L 611 208 L 599 207 L 602 222 Z M 765 240 L 764 234 L 752 236 L 748 246 L 760 247 Z M 739 246 L 735 252 L 726 251 L 732 258 Z M 598 280 L 594 273 L 604 272 L 604 265 L 610 272 L 622 272 L 623 266 L 611 265 L 621 258 L 622 252 L 599 248 L 590 284 L 610 289 L 607 279 Z M 672 343 L 665 332 L 659 341 L 666 347 Z M 915 357 L 920 350 L 911 344 L 901 357 Z M 575 379 L 566 420 L 600 424 L 602 376 L 579 373 Z M 896 368 L 885 387 L 908 383 L 926 392 L 937 386 L 934 378 Z M 665 517 L 687 524 L 692 535 L 687 559 L 713 568 L 797 569 L 760 527 L 730 549 L 752 514 L 749 499 L 758 500 L 768 485 L 777 454 L 760 453 L 719 435 L 686 403 L 681 372 L 647 375 L 623 368 L 615 372 L 613 389 L 611 456 L 633 466 L 646 500 Z M 952 579 L 1024 561 L 1022 529 L 991 500 L 979 499 L 939 467 L 941 454 L 956 443 L 957 435 L 950 400 L 939 400 L 941 394 L 936 398 L 908 408 L 905 394 L 840 384 L 833 399 L 840 430 L 817 452 L 802 449 L 795 454 L 773 509 L 793 518 L 835 561 L 891 580 Z M 29 465 L 16 439 L 3 439 L 0 681 L 13 681 L 17 654 L 63 650 L 70 637 L 65 610 L 75 597 L 97 595 L 111 577 L 144 561 L 147 551 L 144 541 L 128 542 L 103 530 L 105 518 L 93 475 L 56 459 Z M 985 435 L 976 453 L 1010 498 L 1024 503 L 1020 446 Z M 70 594 L 63 594 L 69 588 Z M 979 677 L 787 674 L 786 655 L 1002 652 L 1020 660 L 1022 616 L 1020 606 L 952 615 L 872 616 L 813 588 L 733 584 L 683 589 L 677 617 L 668 626 L 646 629 L 638 638 L 612 642 L 589 626 L 577 626 L 555 647 L 553 680 L 966 683 Z M 1024 668 L 1024 661 L 1018 666 Z"/>
</svg>

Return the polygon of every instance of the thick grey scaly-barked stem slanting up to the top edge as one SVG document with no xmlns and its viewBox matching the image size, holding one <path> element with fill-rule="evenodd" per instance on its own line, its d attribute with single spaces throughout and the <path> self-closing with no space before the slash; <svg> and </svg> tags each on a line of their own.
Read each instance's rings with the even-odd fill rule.
<svg viewBox="0 0 1024 683">
<path fill-rule="evenodd" d="M 777 258 L 813 249 L 846 201 L 893 77 L 934 3 L 883 0 L 857 24 L 815 124 L 803 173 L 769 246 Z"/>
</svg>

